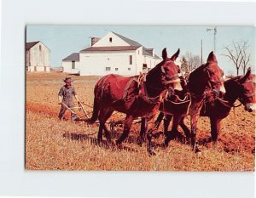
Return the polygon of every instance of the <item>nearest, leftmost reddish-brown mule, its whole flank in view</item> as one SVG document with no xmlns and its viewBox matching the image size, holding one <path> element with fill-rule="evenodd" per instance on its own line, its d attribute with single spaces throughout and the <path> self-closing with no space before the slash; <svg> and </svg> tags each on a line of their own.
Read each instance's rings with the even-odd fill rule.
<svg viewBox="0 0 256 198">
<path fill-rule="evenodd" d="M 103 130 L 106 138 L 110 140 L 110 133 L 105 122 L 114 110 L 126 114 L 124 131 L 116 141 L 116 144 L 120 145 L 128 137 L 134 119 L 138 116 L 145 117 L 147 120 L 153 118 L 166 89 L 182 90 L 179 67 L 174 63 L 178 54 L 179 49 L 172 55 L 172 58 L 168 58 L 166 48 L 164 48 L 163 60 L 148 71 L 145 77 L 110 74 L 96 82 L 93 114 L 89 122 L 96 122 L 97 119 L 100 122 L 98 142 L 102 142 Z"/>
</svg>

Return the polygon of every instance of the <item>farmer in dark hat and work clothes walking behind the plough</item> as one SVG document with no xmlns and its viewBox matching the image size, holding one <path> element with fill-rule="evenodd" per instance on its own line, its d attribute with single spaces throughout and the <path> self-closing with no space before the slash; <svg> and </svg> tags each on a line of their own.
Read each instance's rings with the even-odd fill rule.
<svg viewBox="0 0 256 198">
<path fill-rule="evenodd" d="M 59 105 L 61 105 L 59 118 L 60 120 L 64 119 L 64 114 L 68 107 L 73 111 L 73 112 L 71 111 L 71 120 L 75 122 L 78 116 L 75 114 L 75 111 L 73 108 L 74 107 L 73 96 L 78 101 L 78 103 L 79 103 L 79 98 L 75 91 L 75 88 L 71 85 L 71 82 L 73 82 L 72 78 L 66 77 L 66 79 L 63 82 L 65 82 L 66 84 L 61 87 L 60 92 L 58 94 Z"/>
</svg>

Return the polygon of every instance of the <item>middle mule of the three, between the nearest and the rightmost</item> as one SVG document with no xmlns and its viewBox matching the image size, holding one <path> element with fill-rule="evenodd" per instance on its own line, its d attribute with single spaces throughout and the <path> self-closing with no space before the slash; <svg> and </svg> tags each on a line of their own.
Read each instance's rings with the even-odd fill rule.
<svg viewBox="0 0 256 198">
<path fill-rule="evenodd" d="M 190 94 L 191 104 L 189 105 L 189 111 L 180 109 L 171 112 L 173 116 L 172 133 L 177 133 L 178 124 L 184 119 L 187 114 L 190 116 L 191 133 L 187 127 L 184 127 L 184 133 L 191 139 L 191 145 L 195 152 L 199 152 L 196 141 L 196 125 L 200 116 L 201 108 L 206 98 L 215 98 L 219 94 L 225 93 L 224 88 L 224 72 L 218 67 L 218 61 L 215 54 L 211 52 L 208 55 L 207 63 L 201 65 L 195 71 L 192 71 L 189 75 L 188 92 Z M 167 133 L 169 122 L 172 119 L 171 115 L 166 116 L 165 123 L 165 146 L 167 146 L 172 139 L 172 133 Z M 160 122 L 163 113 L 160 114 L 158 122 Z M 159 123 L 157 124 L 159 125 Z M 183 126 L 182 126 L 183 127 Z"/>
</svg>

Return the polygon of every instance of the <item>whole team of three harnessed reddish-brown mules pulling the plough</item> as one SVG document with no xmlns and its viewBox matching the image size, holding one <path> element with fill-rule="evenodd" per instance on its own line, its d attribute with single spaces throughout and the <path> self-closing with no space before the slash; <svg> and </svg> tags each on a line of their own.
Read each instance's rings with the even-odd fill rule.
<svg viewBox="0 0 256 198">
<path fill-rule="evenodd" d="M 100 122 L 97 137 L 99 143 L 102 142 L 103 131 L 110 141 L 110 133 L 105 122 L 116 110 L 126 115 L 124 131 L 116 144 L 121 145 L 128 137 L 133 120 L 142 117 L 140 143 L 147 134 L 148 152 L 151 155 L 154 154 L 151 139 L 161 119 L 166 116 L 165 145 L 168 145 L 172 139 L 172 133 L 176 134 L 177 127 L 180 125 L 187 138 L 191 140 L 192 148 L 198 152 L 200 150 L 196 141 L 196 124 L 202 112 L 211 119 L 212 140 L 216 141 L 219 122 L 228 116 L 236 99 L 246 106 L 246 110 L 253 110 L 255 87 L 250 70 L 245 76 L 238 76 L 224 82 L 224 72 L 218 67 L 215 55 L 210 53 L 207 63 L 191 72 L 186 82 L 178 65 L 174 62 L 178 54 L 179 49 L 171 58 L 168 58 L 164 48 L 163 60 L 148 71 L 148 74 L 130 77 L 110 74 L 96 82 L 93 115 L 89 122 L 96 122 L 97 119 Z M 156 122 L 148 124 L 149 121 L 154 120 L 159 110 L 161 113 Z M 188 115 L 191 130 L 183 123 Z M 172 131 L 168 133 L 172 117 Z"/>
</svg>

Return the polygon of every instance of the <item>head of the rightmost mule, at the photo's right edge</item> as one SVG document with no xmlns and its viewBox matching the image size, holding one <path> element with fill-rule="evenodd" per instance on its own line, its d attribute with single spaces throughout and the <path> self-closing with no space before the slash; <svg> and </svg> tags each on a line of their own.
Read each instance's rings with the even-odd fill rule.
<svg viewBox="0 0 256 198">
<path fill-rule="evenodd" d="M 248 68 L 246 75 L 240 77 L 238 83 L 238 99 L 245 106 L 245 110 L 252 112 L 255 110 L 255 82 L 251 68 Z"/>
</svg>

